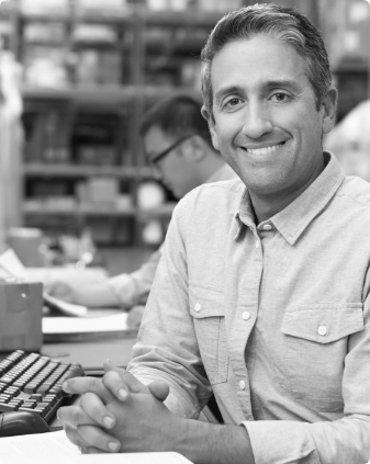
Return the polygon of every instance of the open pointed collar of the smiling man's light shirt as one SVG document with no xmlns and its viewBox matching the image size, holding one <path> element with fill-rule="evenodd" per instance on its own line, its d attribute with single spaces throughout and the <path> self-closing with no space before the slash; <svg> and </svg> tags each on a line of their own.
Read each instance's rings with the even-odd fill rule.
<svg viewBox="0 0 370 464">
<path fill-rule="evenodd" d="M 324 152 L 326 167 L 314 182 L 290 205 L 270 218 L 290 245 L 294 245 L 311 220 L 327 205 L 345 179 L 344 170 L 330 152 Z M 236 218 L 255 228 L 255 216 L 247 189 L 240 199 Z M 238 230 L 240 230 L 239 227 Z M 238 234 L 237 234 L 238 236 Z M 235 237 L 237 238 L 237 237 Z"/>
</svg>

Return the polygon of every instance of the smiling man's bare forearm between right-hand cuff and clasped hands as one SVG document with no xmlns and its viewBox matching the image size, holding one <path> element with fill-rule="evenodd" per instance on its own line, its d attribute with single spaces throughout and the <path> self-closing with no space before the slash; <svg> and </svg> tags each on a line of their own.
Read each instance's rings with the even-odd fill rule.
<svg viewBox="0 0 370 464">
<path fill-rule="evenodd" d="M 194 464 L 254 464 L 249 435 L 244 427 L 183 420 L 176 451 Z"/>
</svg>

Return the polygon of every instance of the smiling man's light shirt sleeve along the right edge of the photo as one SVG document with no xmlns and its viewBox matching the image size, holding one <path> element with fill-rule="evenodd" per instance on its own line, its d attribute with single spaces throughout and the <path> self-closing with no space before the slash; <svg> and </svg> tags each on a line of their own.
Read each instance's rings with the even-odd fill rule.
<svg viewBox="0 0 370 464">
<path fill-rule="evenodd" d="M 363 303 L 363 330 L 348 338 L 348 353 L 344 359 L 345 417 L 315 423 L 243 422 L 249 433 L 256 464 L 365 464 L 370 461 L 369 296 Z"/>
</svg>

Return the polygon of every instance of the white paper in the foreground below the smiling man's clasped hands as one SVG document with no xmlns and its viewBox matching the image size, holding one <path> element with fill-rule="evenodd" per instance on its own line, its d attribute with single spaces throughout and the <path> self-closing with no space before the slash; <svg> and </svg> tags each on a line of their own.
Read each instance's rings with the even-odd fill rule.
<svg viewBox="0 0 370 464">
<path fill-rule="evenodd" d="M 178 453 L 80 454 L 59 432 L 1 438 L 0 464 L 189 464 Z"/>
</svg>

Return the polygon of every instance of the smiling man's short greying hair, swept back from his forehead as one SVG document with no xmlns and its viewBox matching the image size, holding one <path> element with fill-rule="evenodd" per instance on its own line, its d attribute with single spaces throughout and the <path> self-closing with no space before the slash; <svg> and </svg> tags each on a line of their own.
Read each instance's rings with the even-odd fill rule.
<svg viewBox="0 0 370 464">
<path fill-rule="evenodd" d="M 226 44 L 253 38 L 258 34 L 290 44 L 302 56 L 318 111 L 332 84 L 329 61 L 321 32 L 306 16 L 291 8 L 261 3 L 240 8 L 222 18 L 202 50 L 202 94 L 210 114 L 213 114 L 211 66 L 214 56 Z"/>
</svg>

